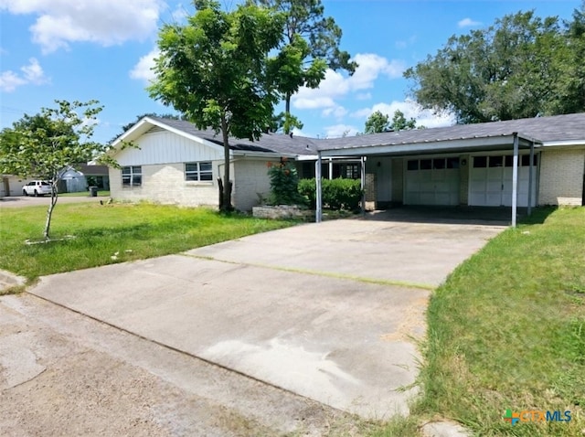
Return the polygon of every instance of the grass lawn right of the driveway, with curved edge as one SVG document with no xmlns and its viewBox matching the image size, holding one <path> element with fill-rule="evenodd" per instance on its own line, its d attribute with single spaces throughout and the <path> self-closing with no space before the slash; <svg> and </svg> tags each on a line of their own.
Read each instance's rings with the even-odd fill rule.
<svg viewBox="0 0 585 437">
<path fill-rule="evenodd" d="M 584 434 L 585 208 L 537 209 L 505 230 L 433 293 L 427 318 L 416 421 L 376 435 L 437 418 L 482 436 Z M 506 409 L 572 419 L 512 426 Z"/>
</svg>

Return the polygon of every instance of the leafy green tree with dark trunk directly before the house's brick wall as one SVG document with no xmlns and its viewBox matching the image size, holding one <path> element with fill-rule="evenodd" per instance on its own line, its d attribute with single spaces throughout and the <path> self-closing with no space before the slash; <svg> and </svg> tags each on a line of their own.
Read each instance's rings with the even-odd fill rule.
<svg viewBox="0 0 585 437">
<path fill-rule="evenodd" d="M 239 5 L 232 12 L 213 0 L 196 0 L 195 6 L 185 26 L 167 24 L 160 30 L 156 80 L 148 90 L 199 129 L 221 132 L 220 208 L 229 210 L 229 135 L 258 139 L 271 123 L 278 95 L 267 56 L 281 40 L 284 20 L 256 5 Z"/>
</svg>

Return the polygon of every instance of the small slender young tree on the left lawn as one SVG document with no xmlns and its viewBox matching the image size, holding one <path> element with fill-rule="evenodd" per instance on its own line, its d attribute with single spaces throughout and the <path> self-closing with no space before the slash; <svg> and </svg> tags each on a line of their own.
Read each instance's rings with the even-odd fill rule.
<svg viewBox="0 0 585 437">
<path fill-rule="evenodd" d="M 105 155 L 107 146 L 91 141 L 98 101 L 56 101 L 57 108 L 43 108 L 36 115 L 25 115 L 0 133 L 0 174 L 37 177 L 51 183 L 51 201 L 43 237 L 49 240 L 57 185 L 68 165 L 86 164 L 99 156 L 102 163 L 116 165 Z M 81 113 L 79 113 L 81 112 Z"/>
</svg>

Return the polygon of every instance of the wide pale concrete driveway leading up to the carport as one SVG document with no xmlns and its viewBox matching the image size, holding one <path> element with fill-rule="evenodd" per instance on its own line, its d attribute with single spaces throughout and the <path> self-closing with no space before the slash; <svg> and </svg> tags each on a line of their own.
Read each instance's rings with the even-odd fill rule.
<svg viewBox="0 0 585 437">
<path fill-rule="evenodd" d="M 408 411 L 430 290 L 503 227 L 336 220 L 44 277 L 30 292 L 363 417 Z M 132 249 L 132 248 L 121 248 Z"/>
</svg>

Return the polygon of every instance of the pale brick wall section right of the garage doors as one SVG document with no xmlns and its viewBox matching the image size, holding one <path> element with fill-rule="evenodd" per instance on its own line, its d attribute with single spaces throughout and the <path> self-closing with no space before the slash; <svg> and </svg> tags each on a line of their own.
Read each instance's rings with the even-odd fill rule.
<svg viewBox="0 0 585 437">
<path fill-rule="evenodd" d="M 545 149 L 540 162 L 538 205 L 580 205 L 585 150 Z"/>
</svg>

